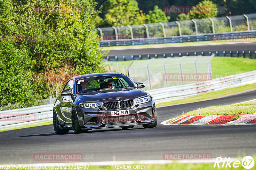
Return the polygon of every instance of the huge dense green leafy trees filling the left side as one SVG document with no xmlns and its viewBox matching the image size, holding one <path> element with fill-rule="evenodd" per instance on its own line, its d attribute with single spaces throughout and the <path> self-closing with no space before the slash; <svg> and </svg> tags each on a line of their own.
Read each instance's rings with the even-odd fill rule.
<svg viewBox="0 0 256 170">
<path fill-rule="evenodd" d="M 92 22 L 99 13 L 95 5 L 93 0 L 0 0 L 0 34 L 31 38 L 7 41 L 1 36 L 1 105 L 31 104 L 58 95 L 71 76 L 104 71 Z"/>
</svg>

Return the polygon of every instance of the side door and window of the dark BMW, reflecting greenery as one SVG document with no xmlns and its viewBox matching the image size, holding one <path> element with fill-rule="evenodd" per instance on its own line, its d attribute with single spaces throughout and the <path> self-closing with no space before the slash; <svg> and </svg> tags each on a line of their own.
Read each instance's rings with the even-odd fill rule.
<svg viewBox="0 0 256 170">
<path fill-rule="evenodd" d="M 74 80 L 71 79 L 69 80 L 64 89 L 73 89 L 74 91 Z M 60 111 L 61 114 L 63 115 L 64 119 L 63 121 L 67 122 L 67 123 L 71 123 L 71 108 L 73 106 L 73 100 L 72 100 L 72 96 L 60 96 L 61 97 L 61 101 L 60 101 Z"/>
</svg>

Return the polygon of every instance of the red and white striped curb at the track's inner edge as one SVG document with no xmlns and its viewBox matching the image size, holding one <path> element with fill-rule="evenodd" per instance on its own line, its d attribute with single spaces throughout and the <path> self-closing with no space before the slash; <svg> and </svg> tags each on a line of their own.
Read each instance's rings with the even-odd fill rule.
<svg viewBox="0 0 256 170">
<path fill-rule="evenodd" d="M 166 120 L 164 125 L 237 125 L 237 124 L 256 124 L 256 113 L 240 115 L 239 119 L 230 121 L 237 115 L 197 115 L 181 116 L 171 120 Z"/>
</svg>

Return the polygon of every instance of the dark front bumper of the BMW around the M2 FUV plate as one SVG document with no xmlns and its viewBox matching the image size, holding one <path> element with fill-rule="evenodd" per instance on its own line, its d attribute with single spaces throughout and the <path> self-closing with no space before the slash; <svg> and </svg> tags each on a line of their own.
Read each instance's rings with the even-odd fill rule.
<svg viewBox="0 0 256 170">
<path fill-rule="evenodd" d="M 76 107 L 78 120 L 83 129 L 98 129 L 110 127 L 122 127 L 139 124 L 150 124 L 156 121 L 156 106 L 154 101 L 137 104 L 137 107 L 117 110 L 130 110 L 129 115 L 111 116 L 111 111 L 104 107 L 96 109 L 83 109 Z"/>
</svg>

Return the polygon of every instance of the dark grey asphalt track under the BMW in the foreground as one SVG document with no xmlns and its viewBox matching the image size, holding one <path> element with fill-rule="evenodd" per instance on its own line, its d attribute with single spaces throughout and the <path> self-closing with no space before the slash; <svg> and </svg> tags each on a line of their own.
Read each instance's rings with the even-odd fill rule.
<svg viewBox="0 0 256 170">
<path fill-rule="evenodd" d="M 111 128 L 55 135 L 52 125 L 0 132 L 0 164 L 48 163 L 37 153 L 81 153 L 82 161 L 163 159 L 164 153 L 211 153 L 237 157 L 256 154 L 256 125 L 162 125 L 162 121 L 200 107 L 255 99 L 256 90 L 224 98 L 157 108 L 158 125 Z M 89 156 L 90 155 L 90 156 Z M 91 159 L 92 158 L 92 159 Z"/>
</svg>

